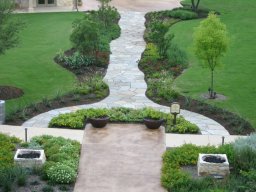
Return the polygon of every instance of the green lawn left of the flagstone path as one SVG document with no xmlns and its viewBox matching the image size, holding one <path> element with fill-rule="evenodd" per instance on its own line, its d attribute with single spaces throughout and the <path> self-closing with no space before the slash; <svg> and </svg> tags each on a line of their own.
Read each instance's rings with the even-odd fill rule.
<svg viewBox="0 0 256 192">
<path fill-rule="evenodd" d="M 0 56 L 0 85 L 16 86 L 23 97 L 7 101 L 7 113 L 58 92 L 72 89 L 75 76 L 57 65 L 53 58 L 60 49 L 71 47 L 72 22 L 81 13 L 18 14 L 25 22 L 21 42 Z"/>
</svg>

